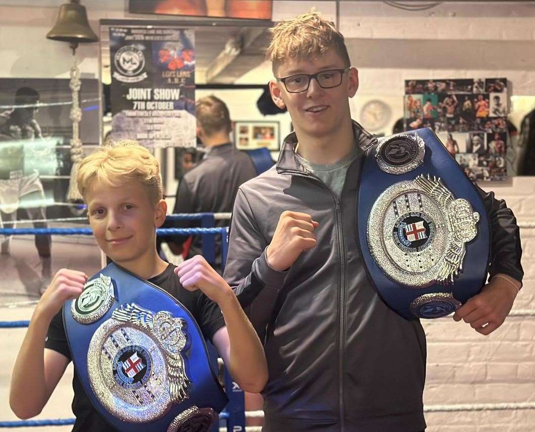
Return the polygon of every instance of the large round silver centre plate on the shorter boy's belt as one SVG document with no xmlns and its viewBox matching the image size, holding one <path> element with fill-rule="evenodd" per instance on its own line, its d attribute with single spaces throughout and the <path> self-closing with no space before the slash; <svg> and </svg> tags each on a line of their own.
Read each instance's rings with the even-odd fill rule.
<svg viewBox="0 0 535 432">
<path fill-rule="evenodd" d="M 95 331 L 87 353 L 91 388 L 106 410 L 141 423 L 161 418 L 171 404 L 189 397 L 191 381 L 181 353 L 185 327 L 185 320 L 169 312 L 153 314 L 135 303 L 113 311 Z"/>
</svg>

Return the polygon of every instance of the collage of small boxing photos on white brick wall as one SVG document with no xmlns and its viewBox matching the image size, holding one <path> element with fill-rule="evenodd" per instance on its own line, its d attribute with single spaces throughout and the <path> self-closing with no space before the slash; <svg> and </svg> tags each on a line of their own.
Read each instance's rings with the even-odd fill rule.
<svg viewBox="0 0 535 432">
<path fill-rule="evenodd" d="M 473 181 L 507 180 L 506 78 L 406 80 L 404 127 L 430 127 Z"/>
</svg>

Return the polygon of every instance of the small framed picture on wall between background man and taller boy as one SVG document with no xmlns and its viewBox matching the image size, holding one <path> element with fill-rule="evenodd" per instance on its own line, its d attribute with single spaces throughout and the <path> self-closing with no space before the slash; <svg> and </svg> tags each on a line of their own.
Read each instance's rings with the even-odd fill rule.
<svg viewBox="0 0 535 432">
<path fill-rule="evenodd" d="M 234 137 L 239 150 L 280 150 L 278 121 L 236 121 Z"/>
</svg>

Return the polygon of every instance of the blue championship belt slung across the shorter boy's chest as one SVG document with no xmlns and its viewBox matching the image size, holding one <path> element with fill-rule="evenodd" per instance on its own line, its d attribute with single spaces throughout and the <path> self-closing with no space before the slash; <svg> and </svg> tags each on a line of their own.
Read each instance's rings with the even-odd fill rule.
<svg viewBox="0 0 535 432">
<path fill-rule="evenodd" d="M 177 299 L 109 264 L 63 307 L 83 389 L 121 431 L 208 431 L 228 400 Z"/>
</svg>

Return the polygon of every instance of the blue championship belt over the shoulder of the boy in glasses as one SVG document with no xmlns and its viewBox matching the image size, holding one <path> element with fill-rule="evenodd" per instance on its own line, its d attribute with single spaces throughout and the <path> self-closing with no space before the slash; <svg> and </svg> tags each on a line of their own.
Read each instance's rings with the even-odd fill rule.
<svg viewBox="0 0 535 432">
<path fill-rule="evenodd" d="M 444 317 L 483 287 L 488 215 L 431 129 L 396 134 L 366 150 L 357 206 L 368 274 L 402 317 Z"/>
</svg>

